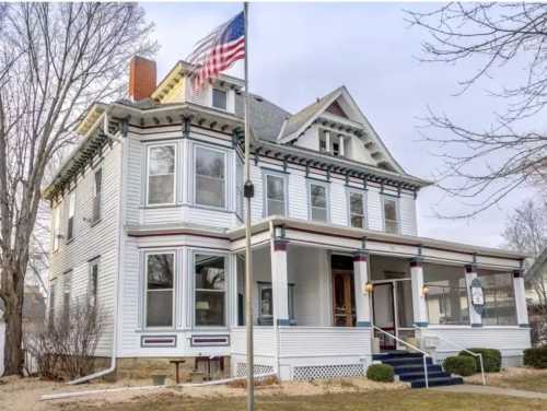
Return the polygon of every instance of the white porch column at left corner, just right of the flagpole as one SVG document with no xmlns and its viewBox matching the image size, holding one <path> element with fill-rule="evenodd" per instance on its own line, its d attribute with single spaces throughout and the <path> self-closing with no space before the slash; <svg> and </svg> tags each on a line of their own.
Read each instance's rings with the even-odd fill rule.
<svg viewBox="0 0 547 411">
<path fill-rule="evenodd" d="M 289 284 L 287 281 L 287 240 L 276 238 L 271 245 L 271 293 L 274 326 L 289 326 Z"/>
</svg>

